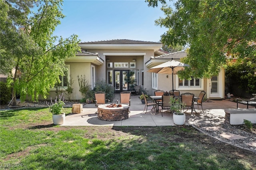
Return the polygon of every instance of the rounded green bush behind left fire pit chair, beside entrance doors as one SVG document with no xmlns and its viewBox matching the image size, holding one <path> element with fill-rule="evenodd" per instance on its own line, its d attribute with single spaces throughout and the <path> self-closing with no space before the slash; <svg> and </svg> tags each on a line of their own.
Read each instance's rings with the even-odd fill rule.
<svg viewBox="0 0 256 170">
<path fill-rule="evenodd" d="M 112 86 L 108 85 L 105 80 L 101 80 L 95 83 L 94 91 L 103 91 L 105 93 L 106 99 L 113 101 L 115 97 L 115 90 Z"/>
</svg>

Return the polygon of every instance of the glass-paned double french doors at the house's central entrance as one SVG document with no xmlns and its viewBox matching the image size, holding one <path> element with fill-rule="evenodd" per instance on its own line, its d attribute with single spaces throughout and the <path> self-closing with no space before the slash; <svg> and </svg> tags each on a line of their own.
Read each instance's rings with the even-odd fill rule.
<svg viewBox="0 0 256 170">
<path fill-rule="evenodd" d="M 128 91 L 129 84 L 127 82 L 128 70 L 114 70 L 114 88 L 116 93 Z"/>
</svg>

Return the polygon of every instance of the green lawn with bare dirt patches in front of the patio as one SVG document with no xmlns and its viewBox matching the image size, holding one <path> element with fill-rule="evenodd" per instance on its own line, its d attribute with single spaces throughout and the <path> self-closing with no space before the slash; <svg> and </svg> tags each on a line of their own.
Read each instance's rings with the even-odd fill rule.
<svg viewBox="0 0 256 170">
<path fill-rule="evenodd" d="M 47 108 L 1 111 L 0 122 L 2 169 L 256 168 L 255 153 L 218 142 L 190 126 L 62 127 L 52 124 Z"/>
</svg>

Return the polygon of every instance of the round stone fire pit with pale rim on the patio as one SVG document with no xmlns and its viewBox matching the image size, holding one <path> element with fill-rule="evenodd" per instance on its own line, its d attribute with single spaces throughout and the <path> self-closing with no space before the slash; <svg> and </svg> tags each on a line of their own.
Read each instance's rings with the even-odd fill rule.
<svg viewBox="0 0 256 170">
<path fill-rule="evenodd" d="M 107 107 L 108 105 L 98 106 L 98 119 L 102 121 L 122 121 L 128 119 L 129 106 Z"/>
</svg>

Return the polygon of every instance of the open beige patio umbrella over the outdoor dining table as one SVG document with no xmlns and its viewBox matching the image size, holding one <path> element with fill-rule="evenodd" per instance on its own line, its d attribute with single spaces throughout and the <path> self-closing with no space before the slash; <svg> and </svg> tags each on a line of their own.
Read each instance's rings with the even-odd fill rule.
<svg viewBox="0 0 256 170">
<path fill-rule="evenodd" d="M 181 63 L 179 61 L 174 60 L 173 58 L 170 61 L 162 63 L 160 65 L 156 65 L 148 70 L 148 72 L 152 73 L 162 73 L 162 74 L 172 74 L 172 90 L 173 89 L 173 75 L 177 74 L 177 71 L 183 70 L 184 67 L 189 67 L 188 64 Z"/>
</svg>

